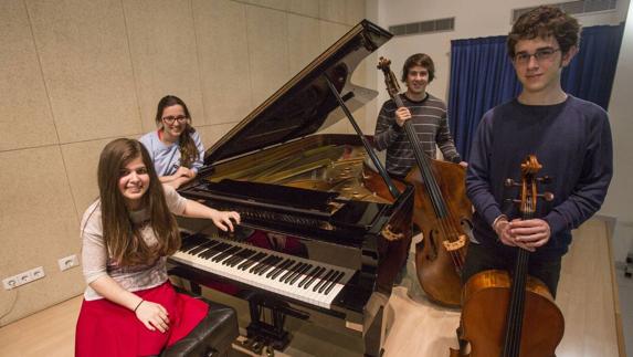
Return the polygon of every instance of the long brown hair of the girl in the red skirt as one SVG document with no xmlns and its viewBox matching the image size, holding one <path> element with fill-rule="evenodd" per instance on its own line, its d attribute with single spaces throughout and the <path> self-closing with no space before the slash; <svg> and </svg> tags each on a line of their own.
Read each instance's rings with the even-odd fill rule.
<svg viewBox="0 0 633 357">
<path fill-rule="evenodd" d="M 149 224 L 158 240 L 149 246 L 140 235 L 140 227 L 129 216 L 119 188 L 119 172 L 140 157 L 149 175 L 149 187 L 141 207 L 149 213 Z M 165 192 L 147 149 L 134 139 L 116 139 L 106 145 L 97 169 L 102 208 L 103 237 L 109 255 L 120 265 L 149 264 L 157 258 L 173 254 L 180 235 L 173 214 L 167 207 Z"/>
</svg>

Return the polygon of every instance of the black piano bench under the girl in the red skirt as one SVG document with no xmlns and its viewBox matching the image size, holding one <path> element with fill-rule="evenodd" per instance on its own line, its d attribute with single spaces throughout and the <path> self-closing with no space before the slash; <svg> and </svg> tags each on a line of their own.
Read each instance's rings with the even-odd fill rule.
<svg viewBox="0 0 633 357">
<path fill-rule="evenodd" d="M 187 293 L 187 292 L 184 292 Z M 160 357 L 225 357 L 238 338 L 238 314 L 232 307 L 202 297 L 209 314 L 182 339 L 162 350 Z"/>
</svg>

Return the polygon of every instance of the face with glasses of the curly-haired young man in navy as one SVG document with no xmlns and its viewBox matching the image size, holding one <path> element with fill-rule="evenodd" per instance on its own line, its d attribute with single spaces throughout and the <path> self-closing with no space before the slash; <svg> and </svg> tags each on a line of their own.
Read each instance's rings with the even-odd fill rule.
<svg viewBox="0 0 633 357">
<path fill-rule="evenodd" d="M 539 55 L 542 53 L 546 55 Z M 524 92 L 526 94 L 547 94 L 561 91 L 560 74 L 573 54 L 574 49 L 562 54 L 558 41 L 553 36 L 519 40 L 515 45 L 513 65 L 519 82 L 523 84 Z"/>
</svg>

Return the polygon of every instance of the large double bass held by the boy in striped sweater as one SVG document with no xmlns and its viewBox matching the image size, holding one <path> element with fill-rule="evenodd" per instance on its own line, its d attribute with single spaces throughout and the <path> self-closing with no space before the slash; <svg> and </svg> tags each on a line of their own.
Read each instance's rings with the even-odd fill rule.
<svg viewBox="0 0 633 357">
<path fill-rule="evenodd" d="M 398 107 L 402 107 L 400 86 L 390 64 L 388 59 L 380 57 L 378 69 L 384 74 L 389 95 Z M 460 274 L 468 243 L 465 232 L 473 227 L 472 204 L 466 197 L 466 172 L 457 164 L 426 157 L 411 120 L 404 122 L 404 132 L 416 162 L 404 180 L 415 187 L 413 222 L 424 237 L 415 245 L 418 280 L 432 301 L 456 307 L 461 304 Z"/>
</svg>

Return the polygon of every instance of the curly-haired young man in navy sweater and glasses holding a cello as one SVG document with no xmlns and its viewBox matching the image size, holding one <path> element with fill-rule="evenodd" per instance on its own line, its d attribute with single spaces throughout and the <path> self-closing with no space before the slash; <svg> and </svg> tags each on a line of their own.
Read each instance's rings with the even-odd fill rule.
<svg viewBox="0 0 633 357">
<path fill-rule="evenodd" d="M 578 52 L 580 25 L 560 9 L 539 7 L 521 15 L 508 35 L 508 54 L 523 91 L 515 99 L 487 112 L 473 141 L 466 188 L 475 206 L 474 242 L 462 272 L 465 283 L 477 272 L 513 271 L 516 246 L 531 251 L 529 274 L 556 296 L 561 256 L 571 230 L 595 213 L 613 174 L 612 139 L 606 113 L 598 105 L 565 93 L 562 69 Z M 535 219 L 521 217 L 517 189 L 520 164 L 537 156 L 549 176 Z"/>
</svg>

